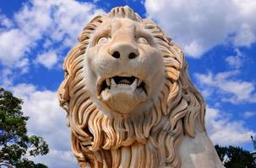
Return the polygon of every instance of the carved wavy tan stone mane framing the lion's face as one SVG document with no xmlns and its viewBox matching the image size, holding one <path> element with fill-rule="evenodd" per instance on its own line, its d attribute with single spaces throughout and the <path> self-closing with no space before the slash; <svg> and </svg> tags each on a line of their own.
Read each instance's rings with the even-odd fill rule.
<svg viewBox="0 0 256 168">
<path fill-rule="evenodd" d="M 130 18 L 153 34 L 165 64 L 164 85 L 149 111 L 139 117 L 114 118 L 102 113 L 84 85 L 84 54 L 91 34 L 106 18 Z M 68 112 L 72 150 L 84 167 L 180 167 L 178 147 L 184 136 L 204 132 L 205 103 L 188 77 L 182 50 L 153 21 L 128 7 L 113 8 L 85 26 L 79 44 L 68 52 L 65 79 L 58 89 Z M 124 160 L 125 158 L 125 160 Z"/>
</svg>

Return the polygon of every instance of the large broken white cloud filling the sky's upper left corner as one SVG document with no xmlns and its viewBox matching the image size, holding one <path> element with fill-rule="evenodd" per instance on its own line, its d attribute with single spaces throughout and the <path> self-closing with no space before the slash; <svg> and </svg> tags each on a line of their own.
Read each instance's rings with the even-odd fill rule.
<svg viewBox="0 0 256 168">
<path fill-rule="evenodd" d="M 13 22 L 1 15 L 5 28 L 0 29 L 0 63 L 16 67 L 20 60 L 31 59 L 31 54 L 52 48 L 62 52 L 75 45 L 84 25 L 99 13 L 104 12 L 93 3 L 74 0 L 30 0 L 24 3 L 19 12 L 14 13 Z M 11 27 L 13 24 L 17 26 Z M 44 62 L 42 65 L 49 68 L 52 64 Z"/>
</svg>

